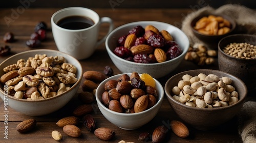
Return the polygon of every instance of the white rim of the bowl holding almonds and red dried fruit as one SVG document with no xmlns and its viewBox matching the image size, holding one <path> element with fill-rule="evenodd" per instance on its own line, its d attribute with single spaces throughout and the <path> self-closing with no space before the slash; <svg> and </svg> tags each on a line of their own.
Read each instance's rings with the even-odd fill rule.
<svg viewBox="0 0 256 143">
<path fill-rule="evenodd" d="M 161 62 L 161 63 L 135 63 L 135 62 L 131 62 L 131 61 L 127 61 L 127 60 L 124 60 L 122 58 L 120 58 L 119 56 L 117 56 L 116 54 L 114 54 L 114 52 L 110 49 L 109 47 L 109 41 L 110 41 L 110 38 L 112 38 L 112 35 L 115 34 L 117 31 L 121 30 L 122 28 L 124 27 L 127 27 L 127 26 L 130 26 L 130 25 L 139 25 L 139 24 L 144 24 L 144 23 L 151 23 L 152 25 L 154 25 L 154 23 L 157 23 L 157 24 L 165 24 L 165 25 L 168 25 L 168 26 L 171 26 L 171 27 L 174 27 L 176 28 L 176 30 L 178 30 L 179 32 L 181 32 L 183 34 L 183 36 L 185 36 L 185 39 L 187 41 L 187 45 L 184 46 L 184 49 L 182 49 L 182 53 L 177 56 L 176 58 L 172 59 L 172 60 L 168 60 L 168 61 L 165 61 L 165 62 Z M 165 22 L 159 22 L 159 21 L 136 21 L 136 22 L 131 22 L 131 23 L 126 23 L 126 24 L 123 24 L 117 28 L 115 28 L 109 35 L 108 37 L 106 37 L 106 40 L 105 40 L 105 47 L 106 47 L 106 50 L 108 51 L 108 53 L 110 53 L 112 56 L 114 56 L 115 59 L 118 59 L 122 62 L 125 62 L 125 63 L 128 63 L 128 64 L 131 64 L 131 65 L 139 65 L 139 66 L 150 66 L 150 65 L 162 65 L 162 64 L 167 64 L 167 63 L 172 63 L 176 60 L 178 60 L 179 58 L 183 57 L 186 52 L 188 51 L 188 48 L 189 48 L 189 40 L 188 40 L 188 37 L 183 33 L 183 31 L 181 31 L 178 27 L 172 25 L 172 24 L 168 24 L 168 23 L 165 23 Z"/>
</svg>

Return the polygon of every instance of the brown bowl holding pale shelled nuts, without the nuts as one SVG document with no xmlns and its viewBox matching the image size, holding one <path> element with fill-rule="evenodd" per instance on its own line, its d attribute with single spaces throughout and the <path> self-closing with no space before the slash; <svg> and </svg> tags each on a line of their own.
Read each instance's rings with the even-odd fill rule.
<svg viewBox="0 0 256 143">
<path fill-rule="evenodd" d="M 182 76 L 185 74 L 197 76 L 199 73 L 204 73 L 206 75 L 215 74 L 219 77 L 227 76 L 231 78 L 231 85 L 233 85 L 239 93 L 239 101 L 226 107 L 199 108 L 190 107 L 175 100 L 173 98 L 174 94 L 172 93 L 172 89 L 178 85 L 180 80 L 182 80 Z M 167 80 L 164 91 L 170 106 L 176 112 L 178 117 L 198 130 L 211 130 L 231 120 L 237 113 L 239 113 L 247 96 L 246 85 L 241 79 L 219 70 L 209 69 L 190 70 L 178 73 Z"/>
</svg>

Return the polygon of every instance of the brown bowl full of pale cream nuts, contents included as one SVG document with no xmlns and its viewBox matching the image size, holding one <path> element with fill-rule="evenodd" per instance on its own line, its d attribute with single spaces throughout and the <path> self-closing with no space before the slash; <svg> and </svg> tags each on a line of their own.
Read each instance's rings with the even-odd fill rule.
<svg viewBox="0 0 256 143">
<path fill-rule="evenodd" d="M 247 96 L 241 79 L 210 69 L 178 73 L 168 79 L 164 90 L 181 120 L 199 130 L 211 130 L 231 120 Z"/>
</svg>

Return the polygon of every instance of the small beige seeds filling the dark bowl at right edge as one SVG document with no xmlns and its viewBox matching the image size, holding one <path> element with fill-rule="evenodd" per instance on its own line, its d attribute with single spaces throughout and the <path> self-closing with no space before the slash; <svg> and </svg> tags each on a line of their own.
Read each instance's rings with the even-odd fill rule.
<svg viewBox="0 0 256 143">
<path fill-rule="evenodd" d="M 256 59 L 256 46 L 249 43 L 230 43 L 223 51 L 234 58 Z"/>
</svg>

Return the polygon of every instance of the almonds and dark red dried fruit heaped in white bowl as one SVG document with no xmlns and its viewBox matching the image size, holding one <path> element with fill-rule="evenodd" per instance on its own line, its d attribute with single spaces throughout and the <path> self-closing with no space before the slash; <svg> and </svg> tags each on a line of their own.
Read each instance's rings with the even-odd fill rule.
<svg viewBox="0 0 256 143">
<path fill-rule="evenodd" d="M 153 25 L 132 28 L 128 35 L 119 37 L 114 53 L 120 58 L 136 63 L 161 63 L 182 53 L 181 48 L 166 30 Z"/>
</svg>

